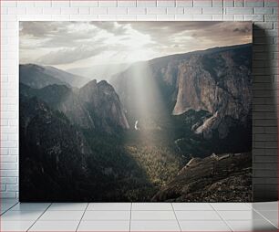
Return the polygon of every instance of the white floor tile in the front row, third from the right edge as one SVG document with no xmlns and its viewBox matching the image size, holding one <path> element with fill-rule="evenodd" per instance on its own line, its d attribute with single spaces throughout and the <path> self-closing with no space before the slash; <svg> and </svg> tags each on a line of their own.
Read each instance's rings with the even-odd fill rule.
<svg viewBox="0 0 279 232">
<path fill-rule="evenodd" d="M 130 231 L 181 231 L 177 221 L 131 221 Z"/>
</svg>

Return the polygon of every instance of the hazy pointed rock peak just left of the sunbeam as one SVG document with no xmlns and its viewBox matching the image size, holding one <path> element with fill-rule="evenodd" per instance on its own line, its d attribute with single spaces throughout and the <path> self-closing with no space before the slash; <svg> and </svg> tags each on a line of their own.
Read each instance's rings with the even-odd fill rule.
<svg viewBox="0 0 279 232">
<path fill-rule="evenodd" d="M 112 132 L 114 127 L 129 129 L 129 123 L 119 100 L 118 94 L 106 80 L 88 82 L 79 90 L 79 99 L 87 105 L 98 127 Z"/>
</svg>

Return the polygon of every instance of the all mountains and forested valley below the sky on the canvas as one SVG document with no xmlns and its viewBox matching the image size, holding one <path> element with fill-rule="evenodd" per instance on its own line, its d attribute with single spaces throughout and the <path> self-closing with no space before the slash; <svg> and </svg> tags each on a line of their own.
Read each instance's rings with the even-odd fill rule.
<svg viewBox="0 0 279 232">
<path fill-rule="evenodd" d="M 234 176 L 249 192 L 250 171 L 204 179 L 185 167 L 200 159 L 207 170 L 212 153 L 245 153 L 222 163 L 244 157 L 243 169 L 251 166 L 251 57 L 251 44 L 215 47 L 121 67 L 109 82 L 20 65 L 21 199 L 217 201 L 192 190 L 173 194 L 197 183 L 188 180 L 193 172 L 201 189 Z"/>
</svg>

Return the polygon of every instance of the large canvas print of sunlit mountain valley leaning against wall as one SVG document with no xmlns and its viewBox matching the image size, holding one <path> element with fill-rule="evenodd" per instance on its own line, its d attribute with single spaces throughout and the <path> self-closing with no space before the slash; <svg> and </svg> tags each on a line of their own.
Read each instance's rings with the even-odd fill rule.
<svg viewBox="0 0 279 232">
<path fill-rule="evenodd" d="M 250 22 L 20 22 L 20 200 L 252 200 Z"/>
</svg>

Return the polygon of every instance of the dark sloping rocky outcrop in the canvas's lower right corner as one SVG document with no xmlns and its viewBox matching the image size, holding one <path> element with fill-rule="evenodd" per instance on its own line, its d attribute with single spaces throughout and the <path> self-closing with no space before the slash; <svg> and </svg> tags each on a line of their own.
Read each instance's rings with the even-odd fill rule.
<svg viewBox="0 0 279 232">
<path fill-rule="evenodd" d="M 251 153 L 192 158 L 152 201 L 249 202 L 252 200 L 251 162 Z"/>
</svg>

